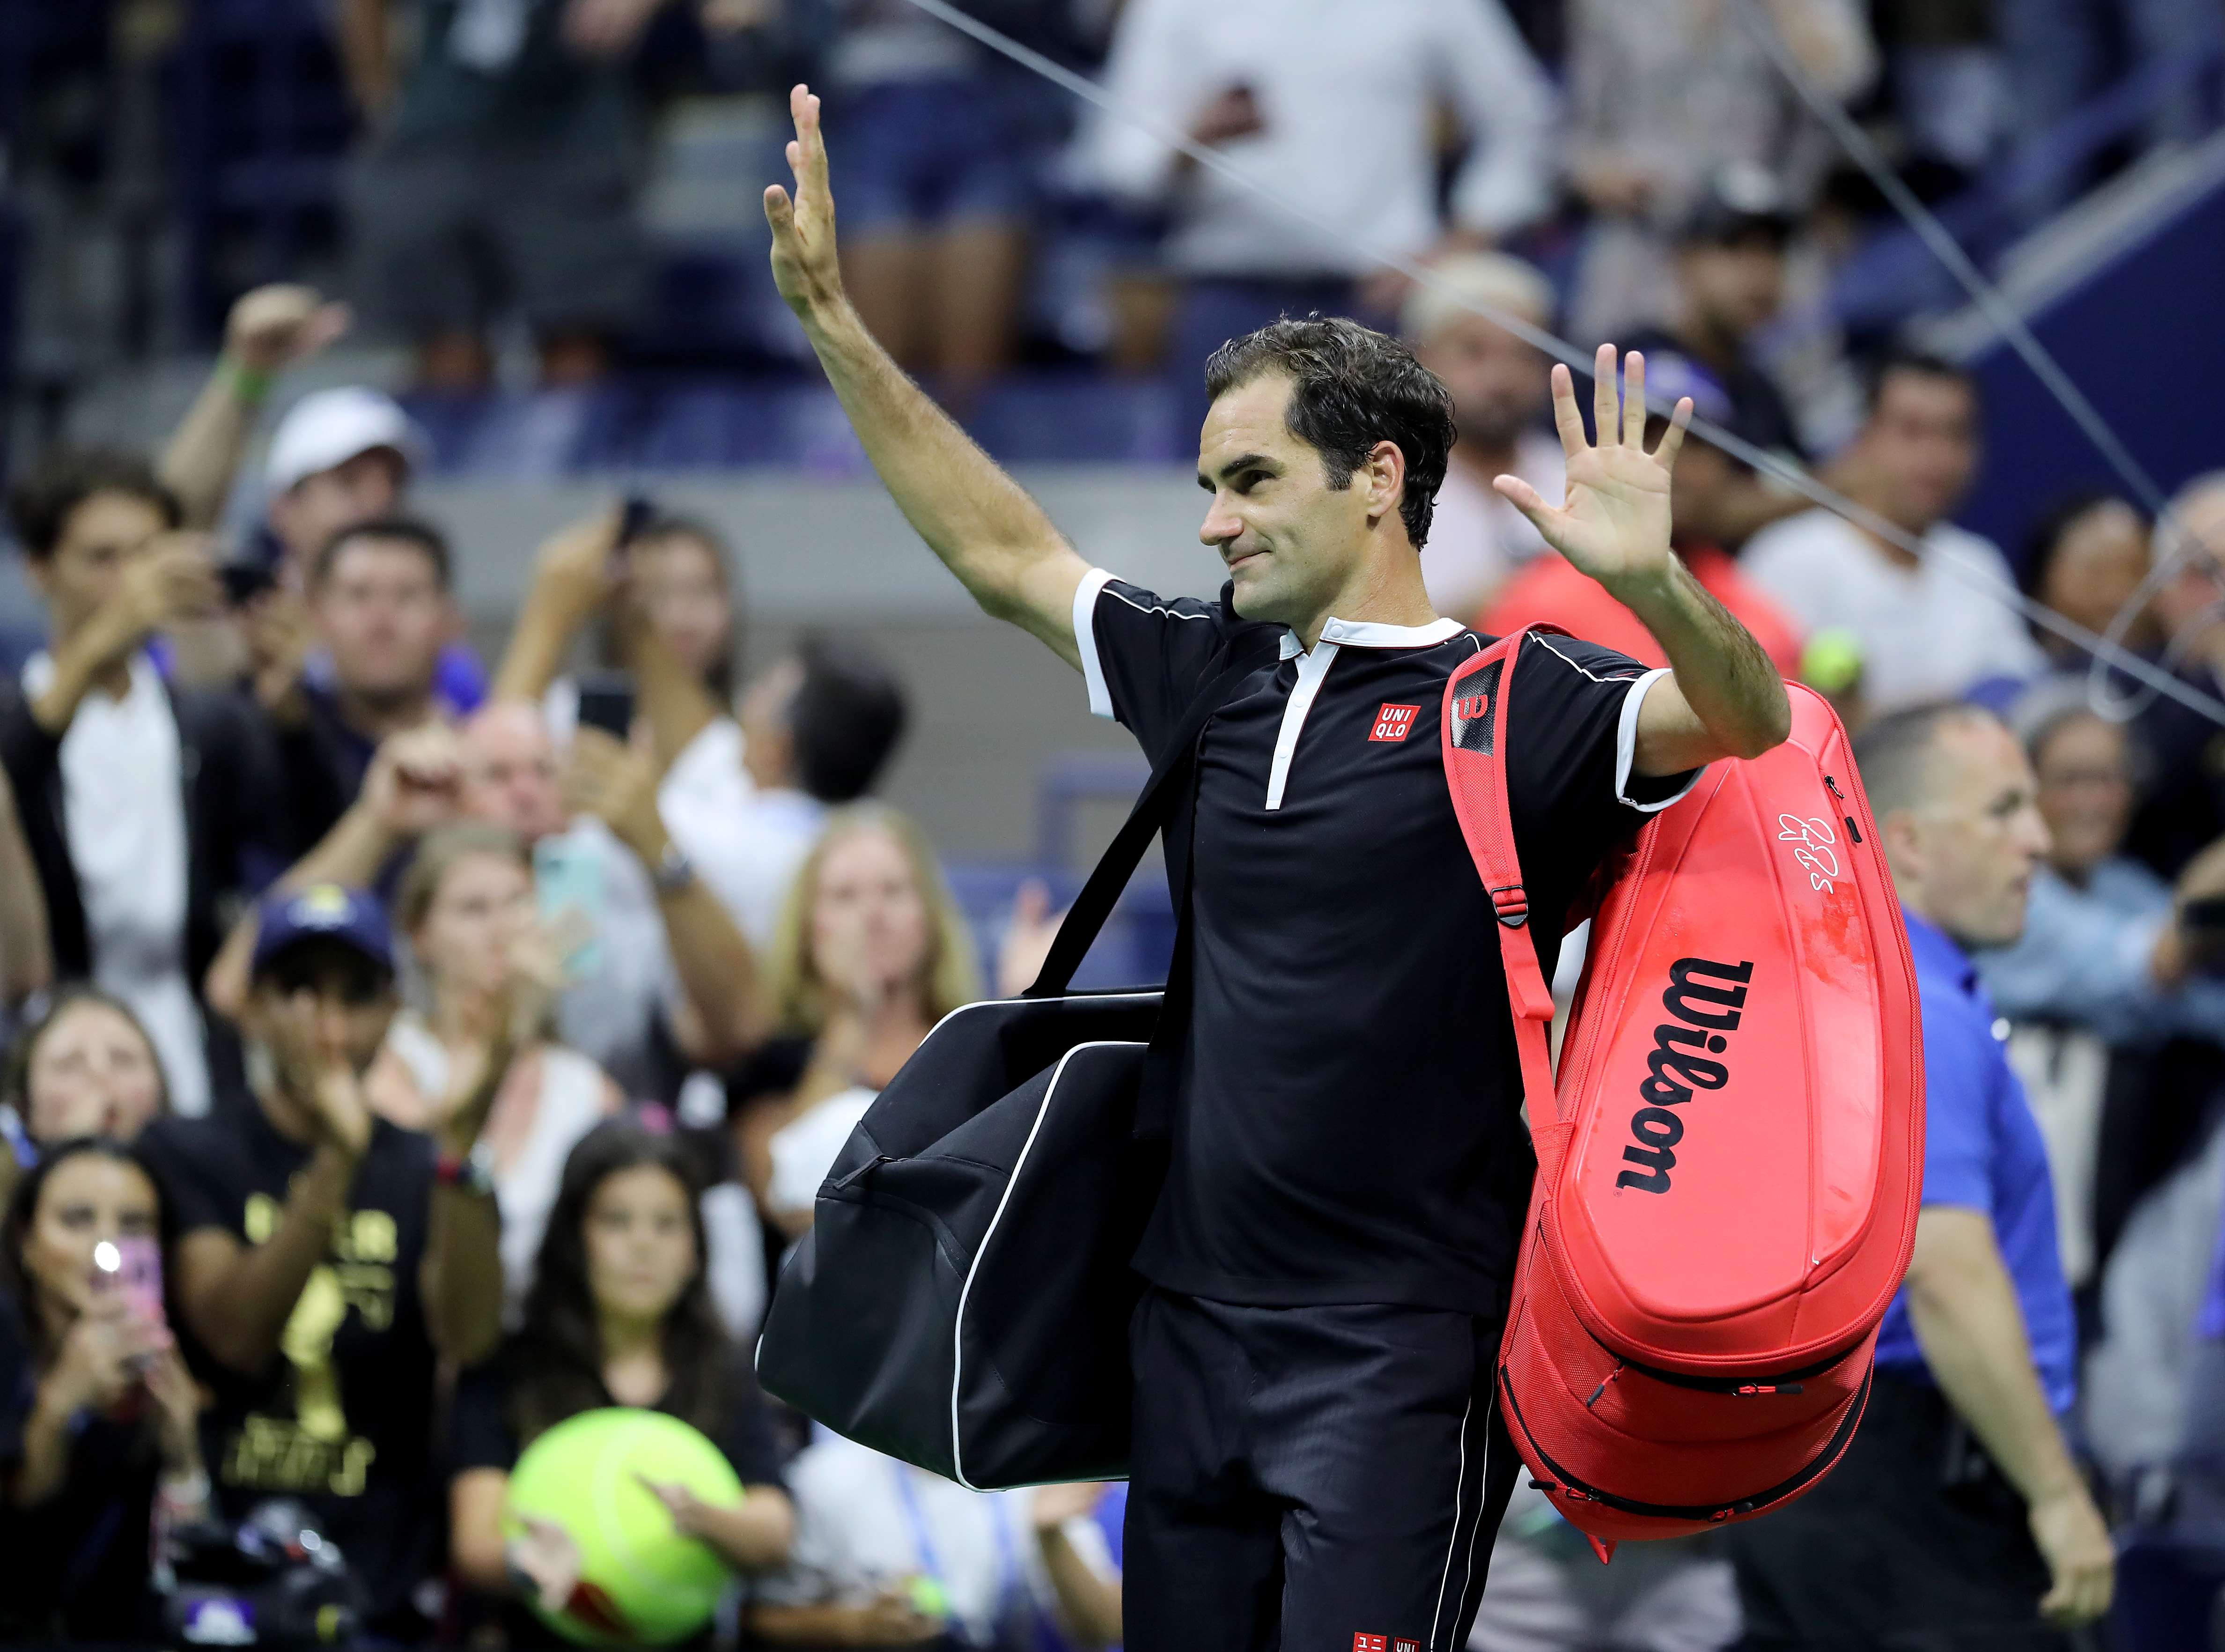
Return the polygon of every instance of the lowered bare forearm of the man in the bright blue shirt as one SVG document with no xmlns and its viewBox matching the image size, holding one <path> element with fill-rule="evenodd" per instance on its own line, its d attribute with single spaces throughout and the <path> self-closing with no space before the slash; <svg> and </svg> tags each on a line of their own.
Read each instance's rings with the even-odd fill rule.
<svg viewBox="0 0 2225 1652">
<path fill-rule="evenodd" d="M 1958 1251 L 1911 1269 L 1909 1320 L 1940 1392 L 2027 1503 L 2080 1485 L 1998 1253 Z"/>
</svg>

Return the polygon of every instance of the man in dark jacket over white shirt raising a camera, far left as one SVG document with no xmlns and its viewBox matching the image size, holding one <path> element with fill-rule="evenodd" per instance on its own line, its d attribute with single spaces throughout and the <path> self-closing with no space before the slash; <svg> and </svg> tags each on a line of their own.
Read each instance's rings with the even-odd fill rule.
<svg viewBox="0 0 2225 1652">
<path fill-rule="evenodd" d="M 51 639 L 0 697 L 0 764 L 47 906 L 53 966 L 145 1022 L 171 1104 L 207 1111 L 207 1029 L 191 982 L 218 913 L 294 859 L 276 741 L 229 692 L 171 688 L 147 641 L 216 601 L 202 539 L 145 461 L 60 452 L 13 496 Z M 220 1062 L 229 1066 L 229 1062 Z"/>
</svg>

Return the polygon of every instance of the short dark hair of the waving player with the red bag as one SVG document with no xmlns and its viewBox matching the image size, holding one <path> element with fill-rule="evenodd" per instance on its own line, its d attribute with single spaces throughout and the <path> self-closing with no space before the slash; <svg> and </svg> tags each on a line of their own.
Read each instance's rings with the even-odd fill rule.
<svg viewBox="0 0 2225 1652">
<path fill-rule="evenodd" d="M 1400 521 L 1420 550 L 1453 454 L 1453 392 L 1397 338 L 1342 316 L 1284 316 L 1230 338 L 1206 361 L 1206 394 L 1219 401 L 1266 374 L 1290 378 L 1290 434 L 1322 454 L 1328 485 L 1353 485 L 1375 443 L 1406 459 Z"/>
</svg>

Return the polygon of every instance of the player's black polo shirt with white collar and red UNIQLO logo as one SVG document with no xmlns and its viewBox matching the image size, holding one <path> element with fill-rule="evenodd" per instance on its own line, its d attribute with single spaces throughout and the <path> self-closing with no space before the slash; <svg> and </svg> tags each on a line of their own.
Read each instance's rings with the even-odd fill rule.
<svg viewBox="0 0 2225 1652">
<path fill-rule="evenodd" d="M 1075 597 L 1090 710 L 1159 755 L 1233 621 L 1092 572 Z M 1190 1022 L 1173 1167 L 1137 1251 L 1224 1302 L 1495 1314 L 1529 1202 L 1497 922 L 1444 786 L 1437 710 L 1464 626 L 1331 619 L 1284 635 L 1199 744 Z M 1693 777 L 1631 775 L 1653 679 L 1537 637 L 1509 704 L 1531 933 L 1553 973 L 1600 859 Z"/>
</svg>

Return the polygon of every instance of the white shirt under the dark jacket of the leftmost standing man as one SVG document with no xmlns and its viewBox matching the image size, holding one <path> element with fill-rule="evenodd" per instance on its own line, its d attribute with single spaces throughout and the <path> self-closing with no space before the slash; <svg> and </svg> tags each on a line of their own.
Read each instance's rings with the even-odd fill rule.
<svg viewBox="0 0 2225 1652">
<path fill-rule="evenodd" d="M 53 661 L 22 668 L 27 695 L 53 684 Z M 62 828 L 85 904 L 93 984 L 147 1026 L 174 1113 L 209 1111 L 200 1004 L 185 977 L 185 779 L 178 717 L 147 655 L 131 659 L 122 699 L 91 690 L 62 732 Z"/>
</svg>

